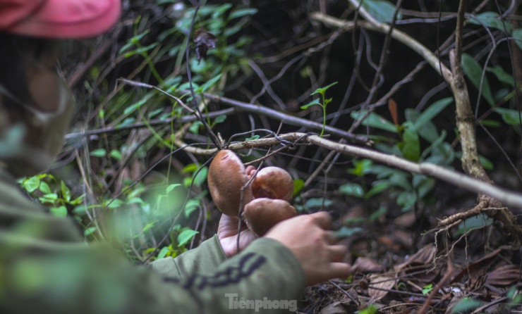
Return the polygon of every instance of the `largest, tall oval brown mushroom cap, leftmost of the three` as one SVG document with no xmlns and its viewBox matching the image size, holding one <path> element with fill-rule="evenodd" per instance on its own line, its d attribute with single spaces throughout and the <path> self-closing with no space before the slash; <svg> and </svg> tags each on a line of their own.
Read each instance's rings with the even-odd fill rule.
<svg viewBox="0 0 522 314">
<path fill-rule="evenodd" d="M 236 153 L 228 149 L 218 151 L 210 163 L 207 175 L 210 195 L 221 213 L 237 216 L 241 200 L 241 187 L 248 181 L 245 165 Z M 252 190 L 247 187 L 243 204 L 252 201 Z"/>
</svg>

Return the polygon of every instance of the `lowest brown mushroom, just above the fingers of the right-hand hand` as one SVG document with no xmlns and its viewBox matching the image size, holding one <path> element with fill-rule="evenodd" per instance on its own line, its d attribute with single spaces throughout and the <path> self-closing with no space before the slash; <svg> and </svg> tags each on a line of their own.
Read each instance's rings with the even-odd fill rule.
<svg viewBox="0 0 522 314">
<path fill-rule="evenodd" d="M 262 237 L 277 222 L 297 215 L 296 208 L 282 199 L 254 199 L 246 204 L 243 219 L 258 237 Z"/>
</svg>

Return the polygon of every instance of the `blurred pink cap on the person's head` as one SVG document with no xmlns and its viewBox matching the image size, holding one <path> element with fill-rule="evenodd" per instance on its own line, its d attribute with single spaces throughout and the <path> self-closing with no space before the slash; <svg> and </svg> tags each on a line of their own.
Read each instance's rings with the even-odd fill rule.
<svg viewBox="0 0 522 314">
<path fill-rule="evenodd" d="M 85 38 L 109 30 L 121 0 L 0 0 L 0 31 L 47 38 Z"/>
</svg>

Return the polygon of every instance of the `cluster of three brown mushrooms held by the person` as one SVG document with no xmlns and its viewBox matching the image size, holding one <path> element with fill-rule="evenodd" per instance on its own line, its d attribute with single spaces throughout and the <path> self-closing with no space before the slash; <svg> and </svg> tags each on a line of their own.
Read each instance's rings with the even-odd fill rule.
<svg viewBox="0 0 522 314">
<path fill-rule="evenodd" d="M 241 188 L 255 175 L 243 191 L 243 219 L 258 237 L 282 220 L 296 215 L 290 205 L 293 181 L 286 170 L 278 167 L 255 168 L 245 165 L 233 151 L 219 151 L 210 163 L 207 182 L 210 195 L 221 213 L 238 216 Z"/>
</svg>

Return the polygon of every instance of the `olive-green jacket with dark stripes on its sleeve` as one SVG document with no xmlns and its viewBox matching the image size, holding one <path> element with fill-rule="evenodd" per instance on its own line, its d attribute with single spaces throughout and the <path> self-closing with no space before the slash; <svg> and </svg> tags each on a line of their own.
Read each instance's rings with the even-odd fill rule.
<svg viewBox="0 0 522 314">
<path fill-rule="evenodd" d="M 0 169 L 0 313 L 289 313 L 305 287 L 298 260 L 271 239 L 229 260 L 210 239 L 171 259 L 164 276 L 136 267 L 85 244 L 71 220 L 43 213 L 8 181 Z"/>
</svg>

